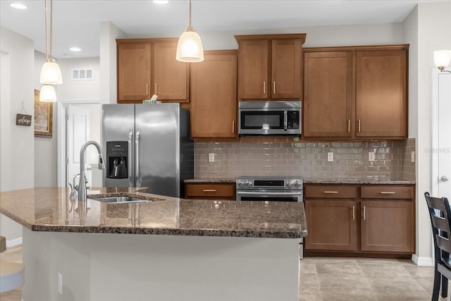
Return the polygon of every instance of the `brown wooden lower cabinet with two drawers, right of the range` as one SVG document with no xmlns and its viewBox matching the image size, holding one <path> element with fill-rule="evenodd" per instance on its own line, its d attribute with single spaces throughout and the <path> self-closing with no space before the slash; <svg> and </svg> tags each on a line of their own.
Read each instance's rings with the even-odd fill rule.
<svg viewBox="0 0 451 301">
<path fill-rule="evenodd" d="M 304 195 L 307 255 L 415 252 L 413 185 L 305 185 Z"/>
</svg>

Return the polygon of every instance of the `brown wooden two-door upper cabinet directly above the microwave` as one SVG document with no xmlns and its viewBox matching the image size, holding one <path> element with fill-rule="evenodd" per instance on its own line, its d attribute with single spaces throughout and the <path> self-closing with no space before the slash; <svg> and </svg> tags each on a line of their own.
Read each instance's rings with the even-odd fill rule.
<svg viewBox="0 0 451 301">
<path fill-rule="evenodd" d="M 305 34 L 235 35 L 238 42 L 238 98 L 301 99 Z"/>
</svg>

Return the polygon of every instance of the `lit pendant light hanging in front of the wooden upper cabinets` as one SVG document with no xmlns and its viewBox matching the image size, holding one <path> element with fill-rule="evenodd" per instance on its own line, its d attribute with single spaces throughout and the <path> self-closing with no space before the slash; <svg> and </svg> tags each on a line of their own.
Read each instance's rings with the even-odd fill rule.
<svg viewBox="0 0 451 301">
<path fill-rule="evenodd" d="M 190 24 L 178 38 L 177 54 L 175 55 L 175 59 L 186 63 L 204 61 L 204 47 L 202 46 L 202 40 L 194 27 L 191 26 L 191 0 Z"/>
</svg>

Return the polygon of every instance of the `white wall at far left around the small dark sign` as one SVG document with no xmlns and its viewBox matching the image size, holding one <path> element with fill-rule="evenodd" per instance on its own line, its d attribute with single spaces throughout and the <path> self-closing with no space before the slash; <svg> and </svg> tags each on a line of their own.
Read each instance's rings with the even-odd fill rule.
<svg viewBox="0 0 451 301">
<path fill-rule="evenodd" d="M 35 181 L 34 122 L 16 125 L 22 103 L 34 116 L 34 44 L 32 40 L 0 27 L 0 191 L 32 188 Z M 22 227 L 0 214 L 0 235 L 22 237 Z"/>
</svg>

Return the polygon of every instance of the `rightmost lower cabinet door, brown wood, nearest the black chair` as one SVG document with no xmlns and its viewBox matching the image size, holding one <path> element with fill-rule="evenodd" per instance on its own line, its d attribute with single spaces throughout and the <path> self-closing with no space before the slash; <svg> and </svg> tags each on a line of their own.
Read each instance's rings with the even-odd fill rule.
<svg viewBox="0 0 451 301">
<path fill-rule="evenodd" d="M 361 202 L 361 250 L 415 252 L 415 213 L 412 201 Z"/>
</svg>

